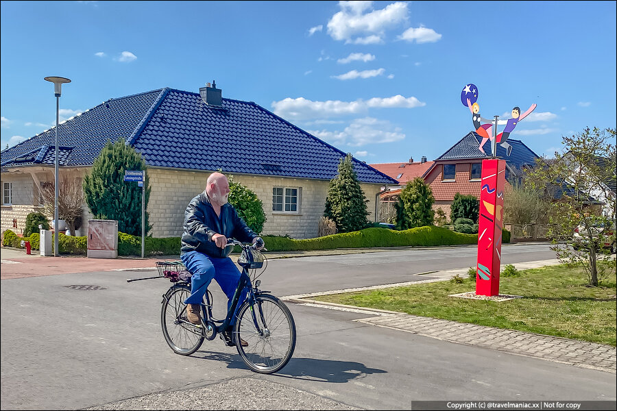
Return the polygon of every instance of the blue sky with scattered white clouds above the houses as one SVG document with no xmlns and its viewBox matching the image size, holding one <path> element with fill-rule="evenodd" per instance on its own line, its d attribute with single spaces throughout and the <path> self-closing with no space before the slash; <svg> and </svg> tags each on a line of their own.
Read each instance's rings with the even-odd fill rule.
<svg viewBox="0 0 617 411">
<path fill-rule="evenodd" d="M 616 127 L 615 1 L 2 1 L 1 147 L 170 87 L 254 101 L 369 164 L 434 160 L 480 113 L 535 153 Z"/>
</svg>

